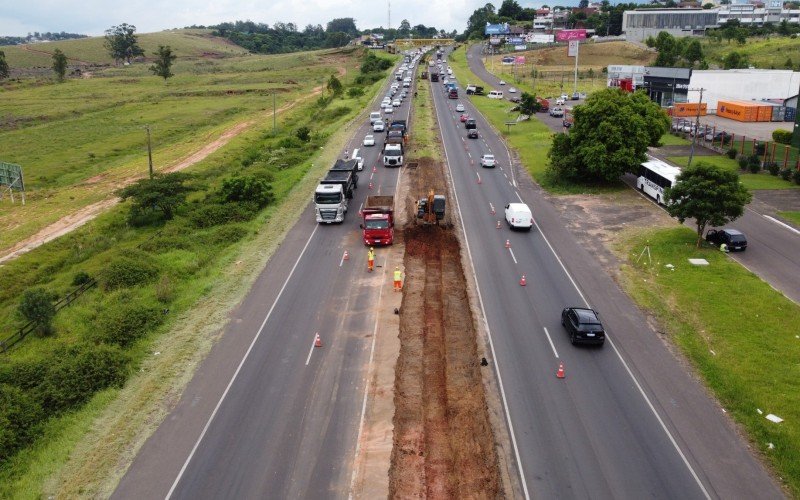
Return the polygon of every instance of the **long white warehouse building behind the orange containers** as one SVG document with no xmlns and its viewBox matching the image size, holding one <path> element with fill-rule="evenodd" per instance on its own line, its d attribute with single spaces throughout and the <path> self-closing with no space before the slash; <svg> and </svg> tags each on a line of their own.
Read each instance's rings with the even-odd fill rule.
<svg viewBox="0 0 800 500">
<path fill-rule="evenodd" d="M 719 100 L 762 101 L 787 99 L 800 89 L 800 72 L 772 69 L 693 70 L 689 89 L 705 89 L 703 102 L 717 109 Z M 689 102 L 698 102 L 700 92 L 690 91 Z"/>
</svg>

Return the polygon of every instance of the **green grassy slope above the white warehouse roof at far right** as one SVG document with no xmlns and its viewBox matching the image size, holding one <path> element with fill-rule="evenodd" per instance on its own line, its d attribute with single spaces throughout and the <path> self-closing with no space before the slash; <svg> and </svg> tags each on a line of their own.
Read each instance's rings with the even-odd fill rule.
<svg viewBox="0 0 800 500">
<path fill-rule="evenodd" d="M 712 66 L 722 67 L 722 60 L 733 51 L 747 56 L 747 60 L 756 68 L 785 69 L 787 59 L 791 59 L 795 70 L 800 65 L 800 43 L 789 37 L 748 38 L 744 45 L 724 40 L 717 43 L 710 38 L 701 39 L 701 43 L 703 53 Z"/>
</svg>

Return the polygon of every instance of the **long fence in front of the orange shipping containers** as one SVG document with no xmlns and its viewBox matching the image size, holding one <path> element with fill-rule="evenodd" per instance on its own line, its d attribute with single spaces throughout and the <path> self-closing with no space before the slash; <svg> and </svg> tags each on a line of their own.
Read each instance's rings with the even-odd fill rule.
<svg viewBox="0 0 800 500">
<path fill-rule="evenodd" d="M 762 166 L 776 163 L 782 169 L 793 168 L 800 170 L 800 151 L 788 144 L 778 144 L 774 141 L 764 141 L 748 138 L 746 135 L 736 135 L 728 133 L 716 126 L 700 126 L 700 133 L 695 133 L 695 120 L 693 118 L 678 118 L 672 120 L 672 131 L 678 132 L 683 136 L 700 144 L 703 147 L 714 150 L 718 153 L 726 153 L 729 149 L 735 148 L 739 155 L 751 155 L 764 144 L 763 153 L 759 153 Z M 711 137 L 709 140 L 708 138 Z"/>
</svg>

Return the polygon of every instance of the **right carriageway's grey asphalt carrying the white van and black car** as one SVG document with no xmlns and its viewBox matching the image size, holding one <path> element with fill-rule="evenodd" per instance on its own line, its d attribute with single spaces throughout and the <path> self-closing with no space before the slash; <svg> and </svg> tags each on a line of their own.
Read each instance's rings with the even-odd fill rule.
<svg viewBox="0 0 800 500">
<path fill-rule="evenodd" d="M 477 140 L 466 138 L 457 101 L 430 85 L 524 484 L 517 496 L 780 498 L 720 408 L 520 177 L 469 100 L 460 102 L 477 118 Z M 489 152 L 495 169 L 478 163 Z M 519 201 L 533 210 L 530 232 L 502 222 L 504 206 Z M 562 308 L 587 304 L 608 331 L 603 348 L 572 346 L 560 325 Z"/>
</svg>

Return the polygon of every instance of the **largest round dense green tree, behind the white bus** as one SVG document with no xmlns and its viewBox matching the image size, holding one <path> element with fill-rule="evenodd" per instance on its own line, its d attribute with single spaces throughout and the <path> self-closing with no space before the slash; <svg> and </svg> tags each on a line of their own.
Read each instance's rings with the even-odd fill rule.
<svg viewBox="0 0 800 500">
<path fill-rule="evenodd" d="M 615 88 L 595 92 L 573 115 L 569 135 L 557 134 L 548 152 L 550 173 L 583 184 L 616 182 L 637 171 L 670 124 L 646 93 Z"/>
</svg>

